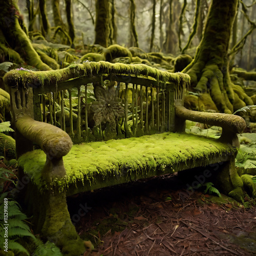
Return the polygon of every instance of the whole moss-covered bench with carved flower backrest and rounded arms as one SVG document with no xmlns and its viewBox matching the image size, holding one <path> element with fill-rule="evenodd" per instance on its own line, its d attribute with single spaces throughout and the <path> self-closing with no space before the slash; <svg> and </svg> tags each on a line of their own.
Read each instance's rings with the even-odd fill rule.
<svg viewBox="0 0 256 256">
<path fill-rule="evenodd" d="M 4 81 L 20 165 L 16 192 L 35 232 L 63 253 L 84 250 L 66 196 L 223 161 L 220 188 L 237 199 L 243 195 L 234 157 L 245 122 L 186 110 L 188 75 L 87 61 L 56 71 L 21 68 Z M 220 139 L 184 133 L 186 119 L 221 126 Z"/>
</svg>

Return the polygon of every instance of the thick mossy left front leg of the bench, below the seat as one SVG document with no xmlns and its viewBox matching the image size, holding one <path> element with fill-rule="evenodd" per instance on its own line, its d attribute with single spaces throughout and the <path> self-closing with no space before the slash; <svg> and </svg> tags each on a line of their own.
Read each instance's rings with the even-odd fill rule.
<svg viewBox="0 0 256 256">
<path fill-rule="evenodd" d="M 71 222 L 66 192 L 44 191 L 41 194 L 35 185 L 30 185 L 33 189 L 27 190 L 26 201 L 33 214 L 35 233 L 55 243 L 65 255 L 82 254 L 86 248 Z"/>
</svg>

